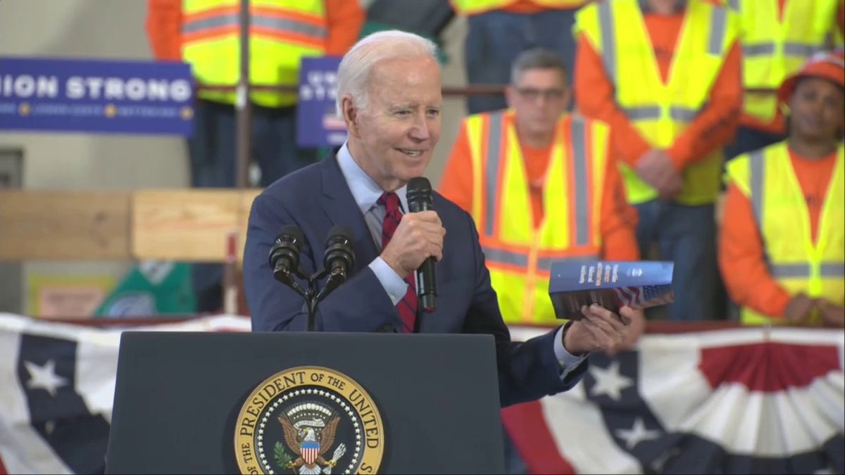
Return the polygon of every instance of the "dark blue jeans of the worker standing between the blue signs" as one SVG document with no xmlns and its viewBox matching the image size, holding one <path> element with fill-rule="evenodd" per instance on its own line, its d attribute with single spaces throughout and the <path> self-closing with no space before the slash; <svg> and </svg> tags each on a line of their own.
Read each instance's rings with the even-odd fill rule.
<svg viewBox="0 0 845 475">
<path fill-rule="evenodd" d="M 236 117 L 232 105 L 202 99 L 197 101 L 194 137 L 188 139 L 191 185 L 194 188 L 235 187 Z M 262 188 L 317 161 L 317 150 L 303 150 L 296 146 L 295 107 L 253 106 L 250 125 L 252 156 L 261 169 L 259 184 Z M 243 246 L 243 243 L 238 245 Z M 222 308 L 222 265 L 194 264 L 191 281 L 198 312 L 216 312 Z"/>
</svg>

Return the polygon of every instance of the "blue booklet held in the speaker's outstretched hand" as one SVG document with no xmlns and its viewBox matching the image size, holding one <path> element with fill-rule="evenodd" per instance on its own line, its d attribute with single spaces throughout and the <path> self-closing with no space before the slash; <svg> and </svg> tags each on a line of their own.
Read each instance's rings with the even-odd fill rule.
<svg viewBox="0 0 845 475">
<path fill-rule="evenodd" d="M 648 308 L 674 300 L 669 261 L 572 261 L 552 263 L 548 295 L 559 319 L 581 319 L 582 305 Z"/>
</svg>

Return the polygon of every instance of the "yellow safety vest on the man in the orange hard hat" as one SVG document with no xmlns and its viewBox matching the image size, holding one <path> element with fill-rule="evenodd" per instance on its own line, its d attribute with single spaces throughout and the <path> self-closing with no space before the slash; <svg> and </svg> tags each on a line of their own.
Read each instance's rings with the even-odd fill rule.
<svg viewBox="0 0 845 475">
<path fill-rule="evenodd" d="M 804 292 L 845 304 L 845 148 L 827 188 L 813 243 L 810 214 L 795 177 L 786 142 L 739 156 L 728 162 L 728 180 L 751 201 L 769 273 L 790 295 Z M 744 324 L 782 321 L 744 307 Z"/>
</svg>

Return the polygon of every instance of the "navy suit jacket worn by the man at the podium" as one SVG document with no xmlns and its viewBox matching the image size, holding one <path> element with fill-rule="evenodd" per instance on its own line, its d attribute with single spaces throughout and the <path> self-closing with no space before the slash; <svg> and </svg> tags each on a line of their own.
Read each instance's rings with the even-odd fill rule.
<svg viewBox="0 0 845 475">
<path fill-rule="evenodd" d="M 503 407 L 570 389 L 581 379 L 587 362 L 561 380 L 553 349 L 556 330 L 523 343 L 511 342 L 472 217 L 436 193 L 433 208 L 446 229 L 443 259 L 436 265 L 437 310 L 419 315 L 417 331 L 493 335 Z M 243 255 L 244 289 L 254 331 L 306 330 L 303 298 L 275 281 L 268 262 L 276 234 L 289 225 L 303 231 L 300 265 L 308 275 L 315 265 L 323 266 L 331 227 L 344 225 L 354 237 L 355 267 L 346 282 L 319 304 L 318 330 L 401 331 L 398 311 L 368 267 L 379 250 L 335 156 L 280 178 L 254 200 Z"/>
</svg>

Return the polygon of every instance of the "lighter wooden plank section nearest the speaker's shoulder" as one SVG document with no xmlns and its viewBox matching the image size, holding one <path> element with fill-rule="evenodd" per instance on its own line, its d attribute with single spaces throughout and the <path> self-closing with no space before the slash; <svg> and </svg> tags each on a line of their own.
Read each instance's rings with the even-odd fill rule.
<svg viewBox="0 0 845 475">
<path fill-rule="evenodd" d="M 240 229 L 239 198 L 222 188 L 134 192 L 134 259 L 223 262 L 226 236 Z"/>
</svg>

